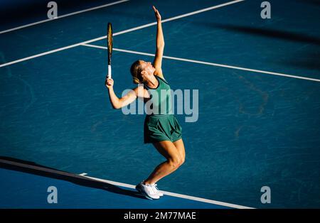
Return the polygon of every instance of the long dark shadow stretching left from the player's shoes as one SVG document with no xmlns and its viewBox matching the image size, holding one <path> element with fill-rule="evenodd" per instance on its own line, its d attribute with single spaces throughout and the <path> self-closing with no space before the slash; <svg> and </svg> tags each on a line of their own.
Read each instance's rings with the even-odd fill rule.
<svg viewBox="0 0 320 223">
<path fill-rule="evenodd" d="M 146 199 L 146 197 L 139 194 L 139 192 L 135 192 L 133 190 L 126 190 L 122 187 L 117 187 L 116 185 L 105 183 L 100 180 L 90 179 L 85 176 L 77 175 L 74 173 L 68 173 L 65 171 L 49 168 L 43 165 L 38 165 L 37 163 L 23 161 L 16 158 L 0 156 L 0 168 L 16 170 L 23 173 L 31 173 L 33 175 L 41 175 L 47 178 L 65 180 L 70 183 L 75 183 L 77 185 L 107 190 L 110 192 L 117 193 L 119 195 L 127 195 L 131 197 Z"/>
</svg>

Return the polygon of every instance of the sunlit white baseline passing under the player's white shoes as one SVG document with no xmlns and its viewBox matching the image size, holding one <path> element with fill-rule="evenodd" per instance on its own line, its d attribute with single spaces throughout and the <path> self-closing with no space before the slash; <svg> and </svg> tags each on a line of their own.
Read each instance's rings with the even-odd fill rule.
<svg viewBox="0 0 320 223">
<path fill-rule="evenodd" d="M 134 185 L 129 185 L 127 183 L 119 183 L 119 182 L 115 182 L 115 181 L 111 181 L 111 180 L 104 180 L 104 179 L 100 179 L 100 178 L 92 178 L 89 176 L 85 176 L 85 178 L 90 178 L 93 180 L 99 180 L 101 182 L 105 182 L 105 183 L 110 183 L 112 185 L 117 185 L 120 187 L 128 187 L 128 188 L 132 188 L 135 189 Z M 226 203 L 226 202 L 220 202 L 220 201 L 216 201 L 216 200 L 209 200 L 209 199 L 205 199 L 205 198 L 201 198 L 201 197 L 193 197 L 193 196 L 189 196 L 189 195 L 181 195 L 181 194 L 177 194 L 174 192 L 168 192 L 168 191 L 163 191 L 161 190 L 161 192 L 164 193 L 164 195 L 169 195 L 171 197 L 180 197 L 180 198 L 184 198 L 184 199 L 188 199 L 188 200 L 196 200 L 198 202 L 206 202 L 206 203 L 210 203 L 213 205 L 221 205 L 221 206 L 225 206 L 225 207 L 233 207 L 233 208 L 237 208 L 237 209 L 254 209 L 253 207 L 246 207 L 246 206 L 242 206 L 242 205 L 234 205 L 234 204 L 230 204 L 230 203 Z"/>
</svg>

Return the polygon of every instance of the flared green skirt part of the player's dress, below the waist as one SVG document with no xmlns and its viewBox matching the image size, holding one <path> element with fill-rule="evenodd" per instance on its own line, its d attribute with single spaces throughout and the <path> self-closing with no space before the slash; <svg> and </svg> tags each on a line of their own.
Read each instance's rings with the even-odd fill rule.
<svg viewBox="0 0 320 223">
<path fill-rule="evenodd" d="M 182 138 L 182 127 L 174 114 L 147 115 L 144 120 L 144 143 L 177 141 Z"/>
</svg>

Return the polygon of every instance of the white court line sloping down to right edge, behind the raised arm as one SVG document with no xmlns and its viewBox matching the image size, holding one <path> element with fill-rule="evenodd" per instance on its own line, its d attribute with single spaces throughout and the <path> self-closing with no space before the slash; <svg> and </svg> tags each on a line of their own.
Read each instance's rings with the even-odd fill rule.
<svg viewBox="0 0 320 223">
<path fill-rule="evenodd" d="M 104 49 L 104 50 L 107 49 L 107 47 L 100 46 L 100 45 L 92 45 L 92 44 L 82 44 L 82 45 L 87 46 L 87 47 L 92 47 L 92 48 L 100 48 L 100 49 Z M 132 51 L 132 50 L 122 50 L 122 49 L 117 49 L 117 48 L 113 48 L 113 50 L 119 51 L 119 52 L 124 52 L 124 53 L 133 53 L 133 54 L 147 55 L 147 56 L 154 57 L 154 54 L 151 54 L 151 53 L 143 53 L 143 52 Z M 235 67 L 235 66 L 223 65 L 223 64 L 214 63 L 214 62 L 204 62 L 204 61 L 200 61 L 200 60 L 188 60 L 188 59 L 184 59 L 184 58 L 174 58 L 174 57 L 169 57 L 169 56 L 165 56 L 165 55 L 163 56 L 163 58 L 171 59 L 171 60 L 186 61 L 186 62 L 194 62 L 194 63 L 199 63 L 199 64 L 203 64 L 203 65 L 210 65 L 210 66 L 215 66 L 215 67 L 226 67 L 226 68 L 236 69 L 236 70 L 259 72 L 259 73 L 263 73 L 263 74 L 267 74 L 267 75 L 277 75 L 277 76 L 282 76 L 282 77 L 291 77 L 291 78 L 296 78 L 296 79 L 311 80 L 311 81 L 320 82 L 319 79 L 314 79 L 314 78 L 309 78 L 309 77 L 302 77 L 302 76 L 297 76 L 297 75 L 286 75 L 286 74 L 282 74 L 279 72 L 255 70 L 255 69 L 250 69 L 250 68 L 245 68 L 245 67 Z"/>
</svg>

